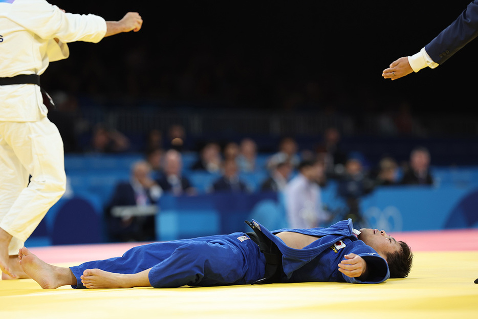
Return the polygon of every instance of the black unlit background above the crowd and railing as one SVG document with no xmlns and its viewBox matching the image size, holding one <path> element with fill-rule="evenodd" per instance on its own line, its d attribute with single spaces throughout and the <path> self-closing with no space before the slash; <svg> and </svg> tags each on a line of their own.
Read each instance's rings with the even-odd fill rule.
<svg viewBox="0 0 478 319">
<path fill-rule="evenodd" d="M 417 117 L 474 114 L 478 41 L 438 69 L 381 77 L 453 22 L 467 0 L 51 3 L 106 20 L 137 11 L 144 20 L 136 34 L 70 44 L 70 58 L 42 76 L 47 90 L 74 94 L 80 106 L 184 101 L 354 114 L 406 101 Z"/>
</svg>

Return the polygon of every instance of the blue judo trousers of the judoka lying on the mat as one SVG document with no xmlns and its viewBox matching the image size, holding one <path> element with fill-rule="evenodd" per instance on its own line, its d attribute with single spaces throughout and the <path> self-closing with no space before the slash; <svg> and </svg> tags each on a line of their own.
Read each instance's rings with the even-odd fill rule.
<svg viewBox="0 0 478 319">
<path fill-rule="evenodd" d="M 251 284 L 262 278 L 265 258 L 245 233 L 216 235 L 137 246 L 122 257 L 86 262 L 70 267 L 77 286 L 85 269 L 138 273 L 151 268 L 149 283 L 155 288 Z"/>
</svg>

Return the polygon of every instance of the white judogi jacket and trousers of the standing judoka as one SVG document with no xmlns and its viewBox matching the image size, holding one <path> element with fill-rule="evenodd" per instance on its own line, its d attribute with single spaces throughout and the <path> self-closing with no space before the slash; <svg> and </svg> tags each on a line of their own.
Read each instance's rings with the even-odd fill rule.
<svg viewBox="0 0 478 319">
<path fill-rule="evenodd" d="M 0 77 L 41 75 L 69 56 L 67 42 L 98 42 L 105 33 L 96 15 L 64 13 L 44 0 L 0 0 Z M 0 227 L 13 236 L 12 255 L 66 186 L 63 142 L 47 113 L 35 84 L 0 86 Z"/>
</svg>

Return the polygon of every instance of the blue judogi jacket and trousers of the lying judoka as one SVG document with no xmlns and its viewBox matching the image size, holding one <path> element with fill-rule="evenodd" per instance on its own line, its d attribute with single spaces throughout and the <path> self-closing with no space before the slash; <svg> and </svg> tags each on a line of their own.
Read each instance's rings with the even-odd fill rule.
<svg viewBox="0 0 478 319">
<path fill-rule="evenodd" d="M 273 232 L 253 220 L 279 248 L 283 269 L 281 282 L 338 281 L 380 283 L 389 278 L 386 261 L 352 232 L 352 220 L 340 221 L 328 228 L 279 229 Z M 294 231 L 320 237 L 303 249 L 288 247 L 274 236 Z M 358 280 L 338 271 L 345 254 L 356 253 L 366 262 L 369 276 Z M 194 239 L 158 242 L 134 247 L 122 257 L 86 262 L 70 267 L 77 286 L 84 288 L 80 276 L 85 269 L 98 268 L 116 273 L 138 273 L 151 268 L 149 283 L 155 288 L 181 286 L 224 286 L 252 284 L 264 278 L 266 260 L 258 245 L 244 232 Z"/>
</svg>

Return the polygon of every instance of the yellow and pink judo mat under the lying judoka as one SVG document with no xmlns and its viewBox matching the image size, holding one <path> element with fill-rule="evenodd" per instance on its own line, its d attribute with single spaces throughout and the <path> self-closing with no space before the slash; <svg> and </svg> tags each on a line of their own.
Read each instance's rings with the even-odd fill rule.
<svg viewBox="0 0 478 319">
<path fill-rule="evenodd" d="M 0 318 L 478 318 L 478 229 L 390 233 L 414 251 L 406 279 L 155 289 L 42 290 L 0 281 Z M 120 256 L 138 243 L 33 247 L 58 265 Z"/>
</svg>

